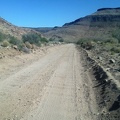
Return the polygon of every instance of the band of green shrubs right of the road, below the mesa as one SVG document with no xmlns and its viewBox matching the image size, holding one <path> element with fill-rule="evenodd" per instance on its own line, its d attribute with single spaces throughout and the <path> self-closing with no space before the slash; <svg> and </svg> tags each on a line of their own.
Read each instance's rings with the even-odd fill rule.
<svg viewBox="0 0 120 120">
<path fill-rule="evenodd" d="M 120 32 L 114 32 L 114 37 L 105 40 L 81 38 L 77 44 L 86 50 L 99 48 L 111 54 L 120 53 Z"/>
</svg>

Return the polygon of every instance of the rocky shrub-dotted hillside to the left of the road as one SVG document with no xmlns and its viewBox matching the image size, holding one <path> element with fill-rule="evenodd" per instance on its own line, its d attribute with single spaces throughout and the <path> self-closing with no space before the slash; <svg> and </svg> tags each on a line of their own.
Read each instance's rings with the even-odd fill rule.
<svg viewBox="0 0 120 120">
<path fill-rule="evenodd" d="M 48 40 L 39 31 L 18 27 L 0 18 L 0 48 L 7 47 L 30 53 L 47 43 Z M 3 55 L 0 57 L 3 58 Z"/>
</svg>

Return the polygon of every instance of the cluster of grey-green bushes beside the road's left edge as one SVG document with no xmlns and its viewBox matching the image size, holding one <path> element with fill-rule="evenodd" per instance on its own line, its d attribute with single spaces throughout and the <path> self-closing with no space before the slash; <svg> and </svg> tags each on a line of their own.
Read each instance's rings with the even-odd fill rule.
<svg viewBox="0 0 120 120">
<path fill-rule="evenodd" d="M 3 47 L 15 47 L 16 49 L 29 53 L 29 49 L 35 49 L 40 47 L 41 44 L 48 43 L 48 40 L 36 33 L 29 33 L 22 36 L 22 39 L 18 39 L 11 35 L 0 33 L 0 44 Z"/>
</svg>

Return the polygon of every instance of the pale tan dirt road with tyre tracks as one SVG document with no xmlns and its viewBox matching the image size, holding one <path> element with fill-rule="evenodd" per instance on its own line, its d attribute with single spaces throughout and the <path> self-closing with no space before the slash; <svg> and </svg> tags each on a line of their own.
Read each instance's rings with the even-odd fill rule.
<svg viewBox="0 0 120 120">
<path fill-rule="evenodd" d="M 92 82 L 73 44 L 0 78 L 0 120 L 97 119 Z"/>
</svg>

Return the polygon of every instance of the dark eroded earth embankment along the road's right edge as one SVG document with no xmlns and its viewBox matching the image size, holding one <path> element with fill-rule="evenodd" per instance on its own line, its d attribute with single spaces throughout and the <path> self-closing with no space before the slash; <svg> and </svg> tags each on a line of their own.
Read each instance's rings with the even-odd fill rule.
<svg viewBox="0 0 120 120">
<path fill-rule="evenodd" d="M 78 47 L 83 65 L 92 80 L 101 120 L 120 119 L 120 86 L 112 74 L 100 65 L 89 53 Z"/>
</svg>

